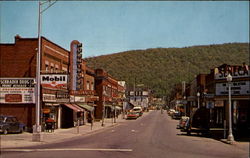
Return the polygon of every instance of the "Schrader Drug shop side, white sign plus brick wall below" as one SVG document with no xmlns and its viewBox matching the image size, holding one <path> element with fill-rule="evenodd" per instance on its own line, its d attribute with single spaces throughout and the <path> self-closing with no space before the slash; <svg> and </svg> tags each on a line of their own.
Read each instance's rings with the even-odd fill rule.
<svg viewBox="0 0 250 158">
<path fill-rule="evenodd" d="M 34 78 L 0 79 L 0 112 L 24 123 L 27 131 L 35 124 Z"/>
</svg>

